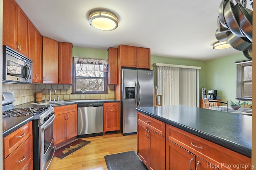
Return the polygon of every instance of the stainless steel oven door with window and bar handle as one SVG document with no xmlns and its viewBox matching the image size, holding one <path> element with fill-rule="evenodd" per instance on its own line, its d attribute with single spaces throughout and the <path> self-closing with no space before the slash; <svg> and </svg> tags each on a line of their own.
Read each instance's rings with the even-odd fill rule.
<svg viewBox="0 0 256 170">
<path fill-rule="evenodd" d="M 44 124 L 39 126 L 39 154 L 40 170 L 46 170 L 54 156 L 55 147 L 53 142 L 55 115 L 50 117 Z"/>
</svg>

